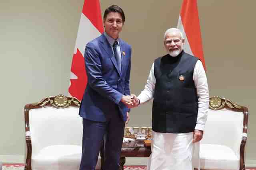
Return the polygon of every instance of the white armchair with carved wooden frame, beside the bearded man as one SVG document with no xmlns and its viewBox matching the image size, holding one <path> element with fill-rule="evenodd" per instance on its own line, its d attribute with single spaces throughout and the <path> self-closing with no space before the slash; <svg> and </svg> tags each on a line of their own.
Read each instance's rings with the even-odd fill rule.
<svg viewBox="0 0 256 170">
<path fill-rule="evenodd" d="M 230 100 L 210 98 L 204 136 L 200 141 L 200 169 L 245 170 L 248 109 Z M 198 156 L 193 165 L 198 169 Z"/>
</svg>

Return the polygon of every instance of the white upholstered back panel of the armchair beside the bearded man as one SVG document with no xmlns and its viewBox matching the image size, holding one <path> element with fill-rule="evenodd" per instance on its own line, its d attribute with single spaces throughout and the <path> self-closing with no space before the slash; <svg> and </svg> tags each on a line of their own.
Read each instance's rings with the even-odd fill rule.
<svg viewBox="0 0 256 170">
<path fill-rule="evenodd" d="M 236 155 L 240 154 L 243 135 L 244 114 L 228 109 L 208 111 L 201 144 L 228 146 Z"/>
</svg>

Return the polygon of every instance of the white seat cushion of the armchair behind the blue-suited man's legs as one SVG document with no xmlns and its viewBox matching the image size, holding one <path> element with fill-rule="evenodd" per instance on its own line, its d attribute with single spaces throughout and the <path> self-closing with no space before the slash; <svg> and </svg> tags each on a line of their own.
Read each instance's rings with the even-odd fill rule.
<svg viewBox="0 0 256 170">
<path fill-rule="evenodd" d="M 77 145 L 52 145 L 32 156 L 32 170 L 78 170 L 82 147 Z M 99 156 L 96 169 L 101 166 Z"/>
</svg>

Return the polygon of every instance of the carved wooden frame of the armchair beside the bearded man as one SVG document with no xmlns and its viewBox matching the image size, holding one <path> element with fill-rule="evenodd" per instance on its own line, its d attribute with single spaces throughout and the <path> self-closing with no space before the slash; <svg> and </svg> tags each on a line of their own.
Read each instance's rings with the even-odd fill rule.
<svg viewBox="0 0 256 170">
<path fill-rule="evenodd" d="M 237 111 L 237 112 L 244 113 L 243 135 L 242 135 L 242 141 L 240 144 L 240 168 L 239 168 L 239 170 L 245 170 L 244 150 L 245 150 L 245 144 L 247 141 L 248 115 L 249 115 L 248 108 L 245 106 L 239 106 L 238 104 L 235 104 L 231 100 L 228 100 L 226 98 L 220 98 L 218 96 L 213 96 L 210 98 L 209 108 L 212 110 L 228 109 L 231 111 Z"/>
</svg>

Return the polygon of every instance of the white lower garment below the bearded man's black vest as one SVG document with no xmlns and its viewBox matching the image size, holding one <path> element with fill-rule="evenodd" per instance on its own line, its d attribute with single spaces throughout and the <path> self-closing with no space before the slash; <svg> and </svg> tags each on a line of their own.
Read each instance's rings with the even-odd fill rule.
<svg viewBox="0 0 256 170">
<path fill-rule="evenodd" d="M 152 131 L 151 155 L 147 170 L 194 170 L 193 132 L 158 133 Z"/>
</svg>

